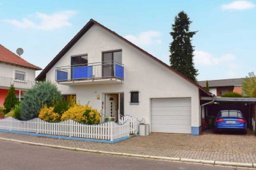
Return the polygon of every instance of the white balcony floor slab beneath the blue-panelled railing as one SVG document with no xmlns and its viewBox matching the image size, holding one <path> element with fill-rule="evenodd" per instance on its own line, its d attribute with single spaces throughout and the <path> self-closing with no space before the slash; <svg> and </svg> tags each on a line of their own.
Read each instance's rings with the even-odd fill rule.
<svg viewBox="0 0 256 170">
<path fill-rule="evenodd" d="M 70 81 L 58 81 L 58 84 L 66 86 L 77 86 L 77 85 L 92 85 L 92 84 L 116 84 L 124 82 L 123 79 L 115 77 L 105 79 L 78 79 Z"/>
</svg>

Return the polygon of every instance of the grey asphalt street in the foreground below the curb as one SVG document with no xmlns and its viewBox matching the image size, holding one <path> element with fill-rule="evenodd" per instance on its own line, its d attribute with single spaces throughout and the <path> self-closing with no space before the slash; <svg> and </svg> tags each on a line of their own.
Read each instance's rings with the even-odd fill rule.
<svg viewBox="0 0 256 170">
<path fill-rule="evenodd" d="M 0 141 L 0 169 L 236 169 Z"/>
</svg>

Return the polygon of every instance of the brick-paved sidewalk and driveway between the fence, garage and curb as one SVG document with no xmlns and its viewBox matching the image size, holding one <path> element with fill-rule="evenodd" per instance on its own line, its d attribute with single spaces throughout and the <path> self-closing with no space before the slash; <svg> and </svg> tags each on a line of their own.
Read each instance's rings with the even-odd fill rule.
<svg viewBox="0 0 256 170">
<path fill-rule="evenodd" d="M 51 144 L 86 150 L 109 151 L 156 157 L 177 157 L 222 162 L 256 163 L 256 137 L 248 135 L 150 134 L 115 144 L 52 139 L 0 132 L 0 137 L 31 143 Z M 256 166 L 256 164 L 255 164 Z"/>
</svg>

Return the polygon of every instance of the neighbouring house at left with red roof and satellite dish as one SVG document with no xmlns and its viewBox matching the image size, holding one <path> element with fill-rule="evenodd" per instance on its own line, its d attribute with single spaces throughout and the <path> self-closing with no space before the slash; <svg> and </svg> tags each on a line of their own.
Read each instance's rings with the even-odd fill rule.
<svg viewBox="0 0 256 170">
<path fill-rule="evenodd" d="M 35 84 L 35 71 L 42 70 L 28 63 L 0 44 L 0 106 L 11 84 L 15 87 L 16 97 L 22 99 L 22 94 Z"/>
</svg>

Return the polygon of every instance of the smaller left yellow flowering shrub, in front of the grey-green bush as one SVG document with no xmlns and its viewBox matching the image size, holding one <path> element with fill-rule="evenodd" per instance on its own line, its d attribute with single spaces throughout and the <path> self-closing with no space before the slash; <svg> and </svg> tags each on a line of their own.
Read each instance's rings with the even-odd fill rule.
<svg viewBox="0 0 256 170">
<path fill-rule="evenodd" d="M 44 121 L 49 122 L 58 122 L 60 121 L 60 114 L 53 111 L 54 107 L 47 107 L 47 105 L 44 105 L 42 109 L 40 109 L 40 112 L 38 114 L 38 118 Z"/>
</svg>

